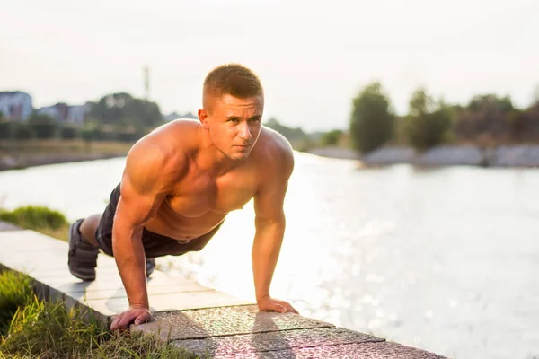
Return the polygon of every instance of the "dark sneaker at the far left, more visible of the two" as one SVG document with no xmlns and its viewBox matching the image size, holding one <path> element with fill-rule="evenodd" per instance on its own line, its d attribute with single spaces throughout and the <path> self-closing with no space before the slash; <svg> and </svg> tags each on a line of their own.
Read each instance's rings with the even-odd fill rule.
<svg viewBox="0 0 539 359">
<path fill-rule="evenodd" d="M 84 281 L 95 279 L 97 267 L 97 254 L 99 250 L 92 244 L 84 241 L 79 228 L 84 219 L 79 219 L 69 226 L 69 252 L 67 254 L 67 267 L 73 276 Z"/>
</svg>

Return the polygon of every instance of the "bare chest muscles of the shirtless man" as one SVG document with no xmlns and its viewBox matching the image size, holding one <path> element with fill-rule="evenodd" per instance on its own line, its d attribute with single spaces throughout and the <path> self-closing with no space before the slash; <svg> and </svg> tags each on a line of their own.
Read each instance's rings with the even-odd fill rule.
<svg viewBox="0 0 539 359">
<path fill-rule="evenodd" d="M 218 179 L 195 176 L 182 180 L 172 196 L 165 199 L 174 213 L 184 217 L 201 217 L 208 213 L 227 214 L 242 209 L 256 192 L 254 179 L 248 173 L 230 174 Z"/>
</svg>

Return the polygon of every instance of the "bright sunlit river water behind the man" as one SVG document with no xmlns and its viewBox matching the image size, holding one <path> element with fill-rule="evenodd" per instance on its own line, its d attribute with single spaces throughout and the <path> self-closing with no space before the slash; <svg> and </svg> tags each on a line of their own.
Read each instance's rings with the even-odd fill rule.
<svg viewBox="0 0 539 359">
<path fill-rule="evenodd" d="M 457 359 L 539 357 L 539 169 L 358 169 L 295 155 L 274 296 Z M 71 220 L 102 212 L 123 164 L 0 172 L 0 206 L 45 205 Z M 205 250 L 159 264 L 252 299 L 253 220 L 249 203 Z"/>
</svg>

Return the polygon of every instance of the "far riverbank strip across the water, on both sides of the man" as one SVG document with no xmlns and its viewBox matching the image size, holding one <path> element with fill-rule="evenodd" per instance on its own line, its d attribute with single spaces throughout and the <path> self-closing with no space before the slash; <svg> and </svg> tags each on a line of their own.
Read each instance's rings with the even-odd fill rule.
<svg viewBox="0 0 539 359">
<path fill-rule="evenodd" d="M 62 147 L 33 145 L 20 152 L 5 151 L 0 145 L 0 171 L 28 167 L 104 160 L 127 155 L 132 144 L 92 143 L 63 144 Z M 24 142 L 18 144 L 22 149 Z M 60 149 L 58 152 L 54 152 Z M 3 151 L 4 150 L 4 151 Z M 513 145 L 495 148 L 475 146 L 440 146 L 424 153 L 411 147 L 387 146 L 362 155 L 351 148 L 316 147 L 305 151 L 322 157 L 357 160 L 363 166 L 385 166 L 410 163 L 421 167 L 482 166 L 482 167 L 539 167 L 539 145 Z"/>
</svg>

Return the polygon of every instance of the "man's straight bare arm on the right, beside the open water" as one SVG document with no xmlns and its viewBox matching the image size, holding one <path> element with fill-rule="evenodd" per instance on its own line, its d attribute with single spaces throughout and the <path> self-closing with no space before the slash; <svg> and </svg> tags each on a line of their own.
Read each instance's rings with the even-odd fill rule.
<svg viewBox="0 0 539 359">
<path fill-rule="evenodd" d="M 295 311 L 286 302 L 270 297 L 270 285 L 283 241 L 286 218 L 283 210 L 288 179 L 294 168 L 294 156 L 286 148 L 279 153 L 278 165 L 268 173 L 254 197 L 255 237 L 252 245 L 252 273 L 256 300 L 261 310 Z M 269 171 L 269 170 L 267 170 Z M 284 310 L 283 310 L 284 311 Z"/>
</svg>

